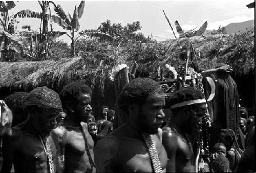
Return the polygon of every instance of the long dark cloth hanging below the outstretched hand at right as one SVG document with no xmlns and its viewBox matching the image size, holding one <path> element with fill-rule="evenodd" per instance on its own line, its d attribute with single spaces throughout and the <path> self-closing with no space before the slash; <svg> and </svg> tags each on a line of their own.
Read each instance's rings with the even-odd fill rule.
<svg viewBox="0 0 256 173">
<path fill-rule="evenodd" d="M 216 73 L 213 119 L 221 128 L 231 128 L 238 134 L 240 115 L 237 83 L 226 73 Z"/>
</svg>

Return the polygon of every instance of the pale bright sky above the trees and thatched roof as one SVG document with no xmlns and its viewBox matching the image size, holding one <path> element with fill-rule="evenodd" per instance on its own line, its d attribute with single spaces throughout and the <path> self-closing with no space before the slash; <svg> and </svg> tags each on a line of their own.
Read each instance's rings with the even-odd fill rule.
<svg viewBox="0 0 256 173">
<path fill-rule="evenodd" d="M 111 23 L 121 23 L 125 26 L 133 21 L 140 21 L 142 29 L 140 32 L 146 37 L 153 35 L 157 41 L 174 39 L 174 34 L 164 17 L 167 17 L 175 29 L 175 20 L 179 21 L 183 30 L 190 30 L 200 26 L 207 20 L 207 30 L 217 30 L 219 26 L 226 26 L 230 23 L 239 23 L 255 18 L 254 9 L 248 9 L 247 4 L 253 0 L 175 0 L 175 1 L 86 1 L 82 17 L 79 19 L 80 30 L 97 29 L 107 19 Z M 73 16 L 75 5 L 79 6 L 80 1 L 54 1 L 57 5 Z M 52 15 L 56 15 L 51 5 Z M 37 1 L 18 1 L 16 7 L 11 9 L 9 14 L 19 10 L 31 9 L 41 11 Z M 39 31 L 40 19 L 26 18 L 18 19 L 18 30 L 23 25 L 31 25 L 32 30 Z M 65 31 L 57 24 L 53 24 L 54 31 Z M 177 34 L 177 33 L 176 33 Z M 178 35 L 177 35 L 178 36 Z M 60 39 L 70 44 L 68 36 L 61 36 Z"/>
</svg>

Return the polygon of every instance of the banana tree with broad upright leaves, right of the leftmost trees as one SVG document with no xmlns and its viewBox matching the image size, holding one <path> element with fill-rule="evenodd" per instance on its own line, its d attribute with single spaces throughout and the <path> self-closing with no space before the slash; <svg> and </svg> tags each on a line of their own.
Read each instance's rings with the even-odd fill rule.
<svg viewBox="0 0 256 173">
<path fill-rule="evenodd" d="M 96 29 L 88 29 L 78 32 L 80 25 L 78 20 L 82 17 L 83 9 L 84 9 L 84 1 L 81 1 L 78 7 L 75 6 L 75 10 L 73 13 L 73 17 L 69 13 L 69 16 L 65 13 L 65 11 L 61 8 L 60 5 L 54 5 L 54 11 L 57 13 L 58 16 L 52 15 L 52 21 L 63 29 L 69 30 L 70 34 L 67 35 L 72 40 L 71 43 L 71 56 L 75 57 L 75 42 L 80 36 L 89 36 L 89 37 L 99 37 L 100 39 L 115 39 L 112 36 L 105 34 Z M 75 33 L 78 32 L 78 35 L 75 36 Z"/>
</svg>

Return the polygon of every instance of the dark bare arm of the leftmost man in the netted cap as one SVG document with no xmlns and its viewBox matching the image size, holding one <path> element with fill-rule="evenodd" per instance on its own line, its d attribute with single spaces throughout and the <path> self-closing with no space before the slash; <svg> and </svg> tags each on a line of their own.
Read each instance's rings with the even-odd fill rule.
<svg viewBox="0 0 256 173">
<path fill-rule="evenodd" d="M 14 156 L 14 146 L 15 140 L 12 139 L 10 135 L 4 136 L 3 139 L 3 166 L 2 172 L 10 172 L 12 168 L 13 156 Z"/>
</svg>

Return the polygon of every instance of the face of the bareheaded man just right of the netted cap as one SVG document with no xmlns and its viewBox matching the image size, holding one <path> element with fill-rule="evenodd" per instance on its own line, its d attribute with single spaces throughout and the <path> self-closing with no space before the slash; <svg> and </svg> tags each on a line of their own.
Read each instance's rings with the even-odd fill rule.
<svg viewBox="0 0 256 173">
<path fill-rule="evenodd" d="M 86 118 L 92 112 L 92 107 L 90 105 L 91 97 L 89 94 L 82 93 L 77 100 L 77 104 L 75 107 L 75 116 L 81 121 L 86 122 Z"/>
</svg>

